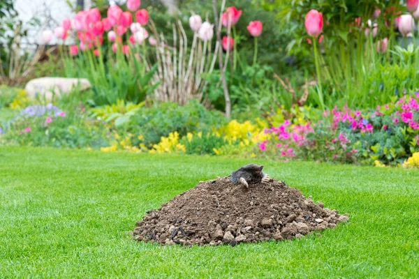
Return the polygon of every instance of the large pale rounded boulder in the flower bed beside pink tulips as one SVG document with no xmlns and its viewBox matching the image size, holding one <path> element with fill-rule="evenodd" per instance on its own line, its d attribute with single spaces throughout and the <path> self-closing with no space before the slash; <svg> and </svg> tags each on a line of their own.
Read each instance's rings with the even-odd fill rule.
<svg viewBox="0 0 419 279">
<path fill-rule="evenodd" d="M 51 100 L 54 94 L 61 96 L 63 93 L 70 93 L 74 88 L 84 91 L 90 87 L 91 84 L 87 79 L 71 77 L 40 77 L 30 80 L 24 89 L 31 98 L 36 98 L 36 96 L 41 96 L 41 98 L 43 98 L 45 96 L 47 100 Z"/>
</svg>

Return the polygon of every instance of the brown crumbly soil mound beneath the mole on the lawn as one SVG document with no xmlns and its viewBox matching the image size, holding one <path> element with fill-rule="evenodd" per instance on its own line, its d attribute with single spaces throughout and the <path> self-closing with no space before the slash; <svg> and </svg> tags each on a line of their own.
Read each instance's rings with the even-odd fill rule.
<svg viewBox="0 0 419 279">
<path fill-rule="evenodd" d="M 230 176 L 200 182 L 177 195 L 160 209 L 148 211 L 136 223 L 138 241 L 161 244 L 234 246 L 240 242 L 293 239 L 314 230 L 336 227 L 348 220 L 336 210 L 324 208 L 283 181 L 246 188 L 230 182 Z"/>
</svg>

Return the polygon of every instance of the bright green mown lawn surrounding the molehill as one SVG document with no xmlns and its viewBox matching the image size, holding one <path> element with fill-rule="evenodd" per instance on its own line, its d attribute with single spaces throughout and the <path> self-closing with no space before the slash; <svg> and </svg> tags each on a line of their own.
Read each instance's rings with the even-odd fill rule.
<svg viewBox="0 0 419 279">
<path fill-rule="evenodd" d="M 419 171 L 263 163 L 350 222 L 234 248 L 128 234 L 145 211 L 249 160 L 0 147 L 0 278 L 418 278 Z"/>
</svg>

